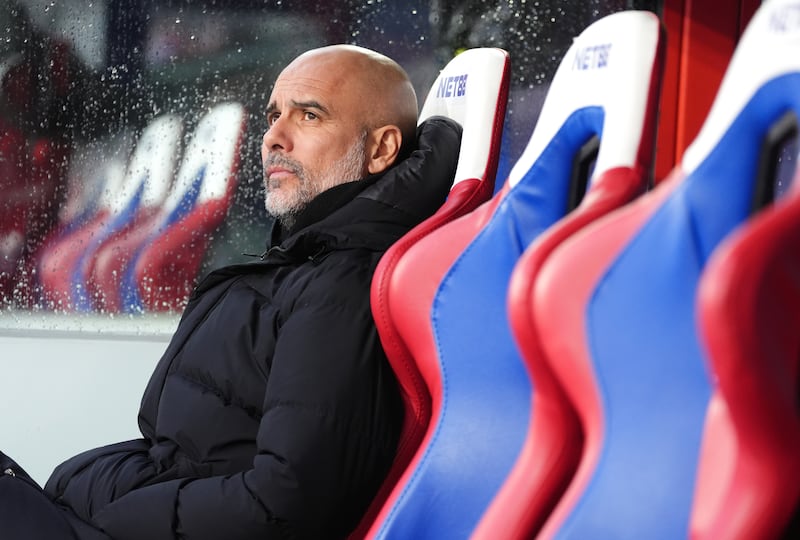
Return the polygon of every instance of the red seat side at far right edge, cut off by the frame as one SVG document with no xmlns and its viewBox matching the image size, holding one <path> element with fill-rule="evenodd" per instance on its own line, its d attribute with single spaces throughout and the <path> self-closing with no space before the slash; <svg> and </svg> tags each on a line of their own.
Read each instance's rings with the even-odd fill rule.
<svg viewBox="0 0 800 540">
<path fill-rule="evenodd" d="M 692 538 L 800 532 L 787 531 L 800 511 L 800 179 L 794 183 L 720 244 L 700 278 L 701 341 L 716 386 Z"/>
</svg>

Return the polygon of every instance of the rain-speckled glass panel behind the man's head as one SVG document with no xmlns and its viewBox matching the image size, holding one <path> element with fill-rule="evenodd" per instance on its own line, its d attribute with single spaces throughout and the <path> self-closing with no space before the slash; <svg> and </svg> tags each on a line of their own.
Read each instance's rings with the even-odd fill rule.
<svg viewBox="0 0 800 540">
<path fill-rule="evenodd" d="M 143 130 L 157 118 L 175 114 L 183 124 L 182 150 L 169 171 L 174 178 L 180 176 L 184 153 L 209 111 L 226 102 L 240 103 L 246 111 L 236 188 L 226 217 L 213 228 L 207 246 L 194 240 L 183 246 L 184 254 L 201 256 L 196 273 L 186 277 L 191 286 L 212 268 L 246 260 L 243 252 L 263 251 L 270 225 L 261 193 L 263 110 L 272 81 L 300 52 L 337 42 L 376 49 L 399 61 L 418 94 L 425 96 L 439 68 L 459 50 L 508 50 L 512 85 L 500 185 L 530 136 L 573 36 L 615 11 L 658 9 L 656 0 L 309 4 L 0 0 L 0 318 L 21 311 L 118 309 L 97 302 L 78 276 L 86 273 L 100 240 L 135 235 L 121 232 L 124 224 L 113 224 L 106 216 L 100 225 L 92 225 L 96 229 L 88 237 L 61 245 L 62 251 L 77 250 L 79 255 L 52 253 L 59 241 L 93 223 L 104 208 L 119 217 L 128 204 L 124 197 L 139 204 L 146 200 L 130 187 L 135 187 L 134 180 L 127 188 L 120 186 L 129 182 L 126 167 Z M 202 170 L 198 174 L 210 174 Z M 146 174 L 160 173 L 152 169 Z M 180 204 L 202 199 L 192 189 L 188 185 Z M 179 210 L 176 206 L 174 214 L 182 215 Z M 140 240 L 147 245 L 154 239 L 149 234 Z M 60 266 L 43 268 L 48 253 Z M 130 277 L 125 275 L 130 269 L 114 272 L 110 275 L 117 285 Z M 78 290 L 58 297 L 43 286 L 48 279 Z M 156 276 L 148 286 L 152 293 L 174 284 Z M 175 294 L 181 301 L 162 305 L 179 311 L 185 295 L 182 290 Z"/>
</svg>

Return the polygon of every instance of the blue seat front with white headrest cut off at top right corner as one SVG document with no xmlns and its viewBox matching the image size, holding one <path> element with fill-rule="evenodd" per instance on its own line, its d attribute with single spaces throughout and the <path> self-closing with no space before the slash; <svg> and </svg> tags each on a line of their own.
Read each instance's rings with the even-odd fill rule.
<svg viewBox="0 0 800 540">
<path fill-rule="evenodd" d="M 768 133 L 800 112 L 796 14 L 784 0 L 759 8 L 670 178 L 571 236 L 533 284 L 532 320 L 585 437 L 543 537 L 689 534 L 713 380 L 698 280 L 761 198 Z"/>
</svg>

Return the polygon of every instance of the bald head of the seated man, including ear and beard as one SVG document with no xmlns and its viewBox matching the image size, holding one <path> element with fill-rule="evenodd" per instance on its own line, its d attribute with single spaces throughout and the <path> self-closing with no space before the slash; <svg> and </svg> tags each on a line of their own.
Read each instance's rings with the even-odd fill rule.
<svg viewBox="0 0 800 540">
<path fill-rule="evenodd" d="M 326 189 L 390 167 L 413 141 L 417 98 L 393 60 L 332 45 L 300 55 L 281 72 L 267 123 L 266 207 L 291 222 Z"/>
</svg>

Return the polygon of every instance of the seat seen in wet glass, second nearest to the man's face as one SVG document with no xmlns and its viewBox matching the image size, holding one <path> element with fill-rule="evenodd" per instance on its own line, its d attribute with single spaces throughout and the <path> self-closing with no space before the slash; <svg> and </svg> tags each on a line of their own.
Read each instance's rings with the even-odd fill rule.
<svg viewBox="0 0 800 540">
<path fill-rule="evenodd" d="M 47 247 L 39 260 L 39 279 L 49 302 L 63 310 L 90 311 L 87 278 L 97 249 L 124 230 L 139 212 L 143 195 L 157 196 L 172 178 L 180 143 L 178 117 L 164 115 L 142 132 L 118 186 L 106 184 L 97 212 Z"/>
</svg>

